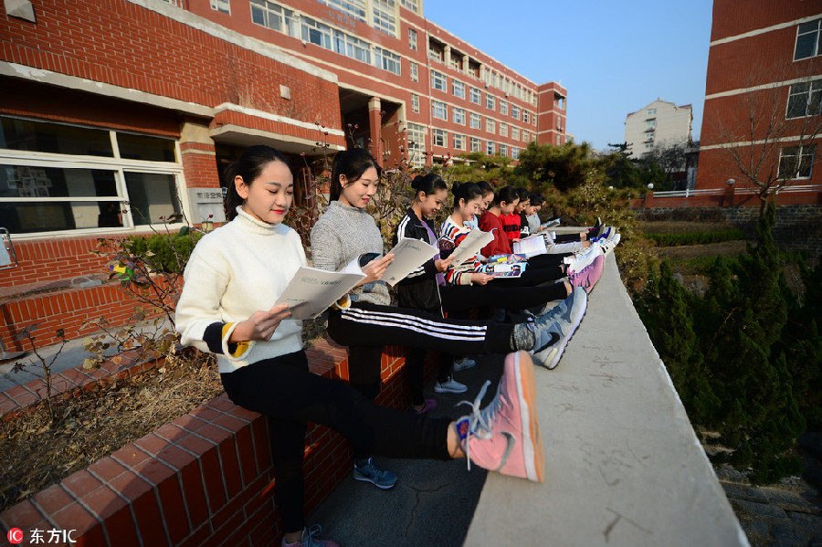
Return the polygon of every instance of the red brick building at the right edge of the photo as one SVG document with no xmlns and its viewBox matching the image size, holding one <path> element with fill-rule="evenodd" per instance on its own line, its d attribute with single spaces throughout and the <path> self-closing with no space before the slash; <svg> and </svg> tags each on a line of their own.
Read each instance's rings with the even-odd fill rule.
<svg viewBox="0 0 822 547">
<path fill-rule="evenodd" d="M 778 203 L 819 203 L 820 33 L 819 2 L 714 0 L 698 189 L 750 190 L 742 163 L 789 184 Z"/>
</svg>

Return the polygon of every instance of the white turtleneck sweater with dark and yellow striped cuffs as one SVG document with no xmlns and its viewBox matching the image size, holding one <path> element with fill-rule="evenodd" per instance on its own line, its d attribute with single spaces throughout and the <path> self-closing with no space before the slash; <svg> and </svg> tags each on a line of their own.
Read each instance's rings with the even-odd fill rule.
<svg viewBox="0 0 822 547">
<path fill-rule="evenodd" d="M 268 341 L 228 344 L 237 323 L 270 310 L 300 266 L 300 236 L 237 207 L 237 217 L 197 243 L 184 271 L 175 323 L 185 345 L 217 354 L 220 373 L 302 349 L 302 321 L 282 321 Z"/>
</svg>

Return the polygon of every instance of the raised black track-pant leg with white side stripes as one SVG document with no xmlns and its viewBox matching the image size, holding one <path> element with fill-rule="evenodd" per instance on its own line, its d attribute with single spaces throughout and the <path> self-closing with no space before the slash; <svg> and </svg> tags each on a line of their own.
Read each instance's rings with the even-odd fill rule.
<svg viewBox="0 0 822 547">
<path fill-rule="evenodd" d="M 328 333 L 345 346 L 407 346 L 466 355 L 507 353 L 513 325 L 443 319 L 421 310 L 353 302 L 332 310 Z"/>
</svg>

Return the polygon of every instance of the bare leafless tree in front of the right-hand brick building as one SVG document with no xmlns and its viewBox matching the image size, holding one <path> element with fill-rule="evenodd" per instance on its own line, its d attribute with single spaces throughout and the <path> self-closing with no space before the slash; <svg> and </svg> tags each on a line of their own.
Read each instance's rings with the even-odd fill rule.
<svg viewBox="0 0 822 547">
<path fill-rule="evenodd" d="M 718 141 L 742 182 L 754 188 L 762 217 L 768 200 L 797 178 L 809 176 L 816 162 L 815 140 L 822 134 L 822 78 L 819 74 L 816 79 L 790 78 L 781 69 L 751 74 L 758 78 L 752 76 L 731 121 L 718 126 Z M 785 81 L 791 83 L 781 83 Z"/>
</svg>

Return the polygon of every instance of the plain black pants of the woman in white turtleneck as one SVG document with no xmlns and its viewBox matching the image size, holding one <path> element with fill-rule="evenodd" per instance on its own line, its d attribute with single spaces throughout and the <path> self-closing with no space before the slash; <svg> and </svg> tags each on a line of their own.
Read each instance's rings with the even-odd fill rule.
<svg viewBox="0 0 822 547">
<path fill-rule="evenodd" d="M 305 426 L 328 426 L 355 447 L 391 458 L 448 459 L 448 418 L 432 419 L 374 405 L 352 386 L 312 374 L 294 352 L 220 374 L 231 400 L 269 417 L 274 493 L 283 530 L 304 528 Z"/>
</svg>

